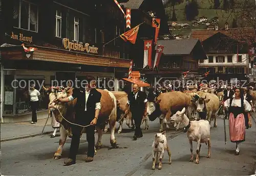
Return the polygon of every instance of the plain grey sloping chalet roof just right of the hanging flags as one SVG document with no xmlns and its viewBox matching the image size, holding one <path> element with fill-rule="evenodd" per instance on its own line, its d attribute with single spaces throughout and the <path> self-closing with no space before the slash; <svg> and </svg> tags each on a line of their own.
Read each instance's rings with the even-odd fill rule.
<svg viewBox="0 0 256 176">
<path fill-rule="evenodd" d="M 157 44 L 164 46 L 164 55 L 189 55 L 197 42 L 198 39 L 157 40 Z"/>
</svg>

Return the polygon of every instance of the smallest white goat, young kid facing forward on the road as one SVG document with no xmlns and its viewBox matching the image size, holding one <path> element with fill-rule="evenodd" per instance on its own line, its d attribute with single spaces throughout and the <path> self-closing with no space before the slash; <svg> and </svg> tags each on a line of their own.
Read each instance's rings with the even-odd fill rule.
<svg viewBox="0 0 256 176">
<path fill-rule="evenodd" d="M 162 160 L 164 156 L 164 150 L 167 150 L 169 156 L 169 164 L 172 164 L 172 160 L 170 159 L 170 149 L 168 147 L 168 143 L 165 136 L 165 131 L 162 133 L 157 133 L 155 135 L 155 140 L 152 144 L 152 154 L 153 154 L 153 165 L 152 169 L 155 170 L 155 166 L 157 164 L 158 156 L 159 156 L 159 165 L 158 169 L 162 169 Z"/>
</svg>

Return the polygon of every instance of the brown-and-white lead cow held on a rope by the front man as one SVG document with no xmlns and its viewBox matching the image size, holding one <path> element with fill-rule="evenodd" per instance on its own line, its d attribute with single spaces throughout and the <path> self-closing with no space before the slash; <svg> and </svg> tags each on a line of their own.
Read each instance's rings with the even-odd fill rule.
<svg viewBox="0 0 256 176">
<path fill-rule="evenodd" d="M 72 138 L 72 131 L 70 122 L 73 123 L 74 121 L 74 107 L 77 101 L 77 98 L 73 99 L 71 102 L 65 104 L 65 103 L 54 103 L 54 99 L 56 98 L 65 98 L 72 94 L 73 88 L 65 88 L 62 91 L 60 91 L 59 87 L 51 87 L 50 89 L 47 89 L 43 87 L 46 91 L 49 92 L 49 106 L 48 108 L 53 112 L 56 121 L 60 123 L 60 140 L 59 140 L 59 146 L 57 151 L 54 154 L 54 159 L 60 159 L 62 154 L 62 148 L 67 140 L 67 136 Z M 109 121 L 110 129 L 111 129 L 111 136 L 110 136 L 110 143 L 113 147 L 116 147 L 116 138 L 115 138 L 115 125 L 116 125 L 116 97 L 113 95 L 113 93 L 97 89 L 101 93 L 101 109 L 99 114 L 99 119 L 106 119 Z M 103 120 L 104 121 L 104 120 Z M 102 143 L 102 134 L 103 129 L 105 127 L 105 122 L 100 125 L 101 128 L 97 127 L 98 132 L 98 141 L 95 147 L 97 149 L 101 148 Z M 85 130 L 81 133 L 84 133 Z M 82 136 L 82 134 L 81 134 Z M 95 150 L 96 153 L 96 150 Z"/>
</svg>

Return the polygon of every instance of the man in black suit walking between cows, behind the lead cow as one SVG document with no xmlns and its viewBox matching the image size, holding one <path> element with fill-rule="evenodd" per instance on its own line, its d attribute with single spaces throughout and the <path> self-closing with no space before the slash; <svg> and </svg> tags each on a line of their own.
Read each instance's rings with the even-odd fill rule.
<svg viewBox="0 0 256 176">
<path fill-rule="evenodd" d="M 142 121 L 143 115 L 146 115 L 146 93 L 139 90 L 139 85 L 133 85 L 133 92 L 128 94 L 128 100 L 126 104 L 126 111 L 127 114 L 128 109 L 132 113 L 132 117 L 135 121 L 135 133 L 133 136 L 133 140 L 137 140 L 137 138 L 143 137 L 140 125 Z"/>
</svg>

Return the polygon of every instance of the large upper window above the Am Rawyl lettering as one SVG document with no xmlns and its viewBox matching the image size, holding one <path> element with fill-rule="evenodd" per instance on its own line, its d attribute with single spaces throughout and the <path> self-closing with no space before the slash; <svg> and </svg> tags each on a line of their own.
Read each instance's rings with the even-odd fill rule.
<svg viewBox="0 0 256 176">
<path fill-rule="evenodd" d="M 38 6 L 25 1 L 18 1 L 13 9 L 13 27 L 38 32 Z"/>
</svg>

